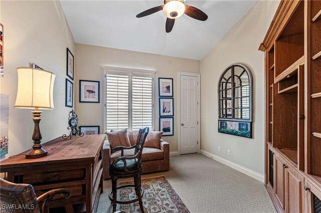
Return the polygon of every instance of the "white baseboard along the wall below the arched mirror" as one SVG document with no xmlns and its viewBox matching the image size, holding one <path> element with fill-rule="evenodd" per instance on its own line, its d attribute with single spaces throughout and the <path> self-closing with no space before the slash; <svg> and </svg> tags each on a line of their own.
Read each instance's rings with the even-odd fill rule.
<svg viewBox="0 0 321 213">
<path fill-rule="evenodd" d="M 238 171 L 240 171 L 240 172 L 242 172 L 242 173 L 244 173 L 246 175 L 249 175 L 250 177 L 253 177 L 254 179 L 257 179 L 257 180 L 259 180 L 259 181 L 264 183 L 264 176 L 262 174 L 256 172 L 256 171 L 248 169 L 248 168 L 246 168 L 244 166 L 241 166 L 241 165 L 239 165 L 237 163 L 234 163 L 234 162 L 232 162 L 230 160 L 227 160 L 227 159 L 225 159 L 223 157 L 217 156 L 217 155 L 215 155 L 215 154 L 213 154 L 211 152 L 205 151 L 203 149 L 201 149 L 201 154 L 203 154 L 203 155 L 205 155 L 207 157 L 210 157 L 213 160 L 216 160 L 216 161 L 218 161 L 220 163 L 223 163 L 223 164 L 225 164 L 225 165 L 227 165 L 227 166 L 229 166 L 231 168 L 234 168 L 235 170 L 238 170 Z"/>
</svg>

